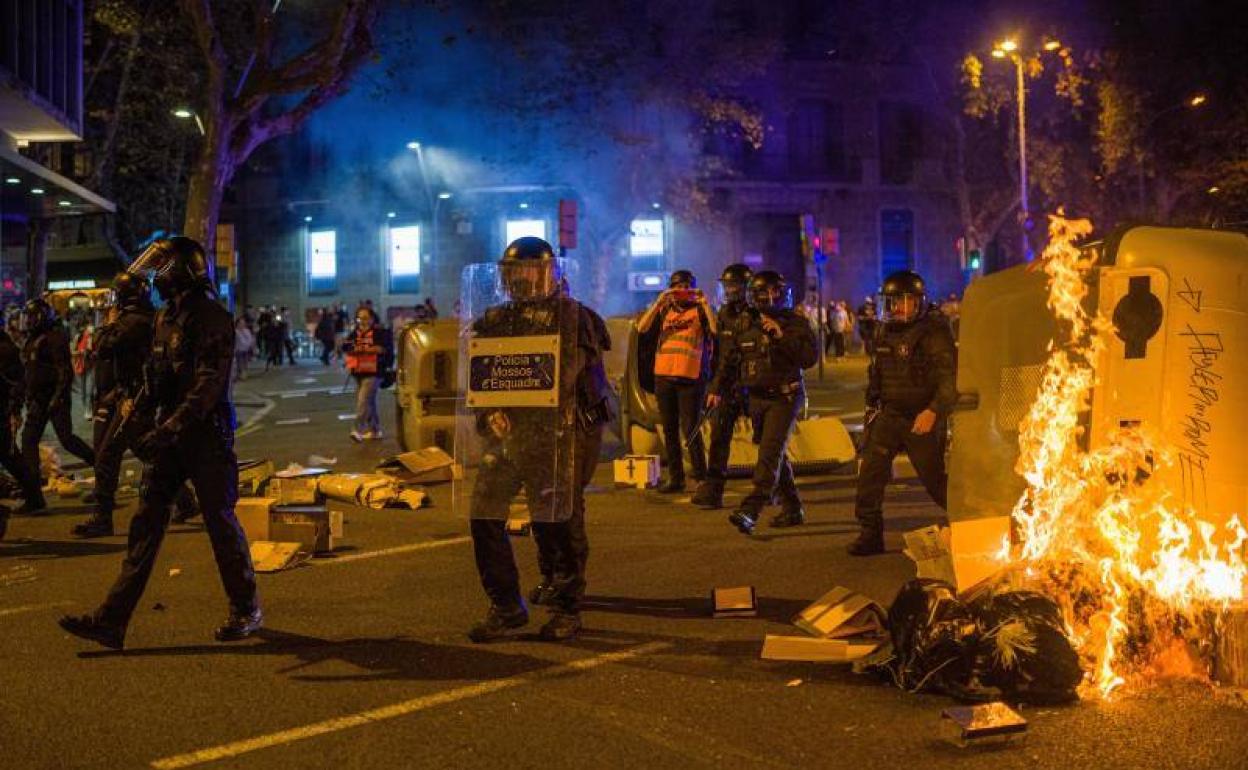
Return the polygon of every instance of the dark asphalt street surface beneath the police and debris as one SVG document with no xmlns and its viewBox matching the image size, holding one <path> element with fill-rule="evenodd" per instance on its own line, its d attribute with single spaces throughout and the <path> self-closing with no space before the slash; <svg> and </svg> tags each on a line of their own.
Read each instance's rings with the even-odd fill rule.
<svg viewBox="0 0 1248 770">
<path fill-rule="evenodd" d="M 852 422 L 861 366 L 834 371 L 815 407 Z M 318 363 L 253 374 L 240 456 L 364 470 L 397 451 L 347 439 L 341 384 Z M 334 558 L 261 575 L 267 628 L 233 645 L 212 640 L 226 607 L 202 528 L 173 527 L 127 649 L 96 649 L 55 619 L 102 597 L 124 538 L 70 538 L 84 508 L 59 502 L 0 543 L 0 768 L 1246 766 L 1248 706 L 1198 683 L 1027 710 L 1026 741 L 962 750 L 941 739 L 948 699 L 760 660 L 763 635 L 800 633 L 789 619 L 832 585 L 887 603 L 914 574 L 900 533 L 936 520 L 904 474 L 890 553 L 850 559 L 852 479 L 800 487 L 810 523 L 748 539 L 726 512 L 615 490 L 600 465 L 585 631 L 562 645 L 537 640 L 540 610 L 515 640 L 467 641 L 485 600 L 441 485 L 424 510 L 353 509 Z M 515 547 L 532 585 L 533 544 Z M 711 588 L 746 584 L 759 618 L 709 616 Z"/>
</svg>

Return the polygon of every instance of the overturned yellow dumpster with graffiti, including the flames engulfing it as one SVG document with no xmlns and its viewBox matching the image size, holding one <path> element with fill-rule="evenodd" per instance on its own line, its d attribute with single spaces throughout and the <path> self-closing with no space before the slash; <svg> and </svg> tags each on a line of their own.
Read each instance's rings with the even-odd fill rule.
<svg viewBox="0 0 1248 770">
<path fill-rule="evenodd" d="M 1090 231 L 1055 217 L 1036 265 L 967 290 L 948 513 L 1011 513 L 1002 567 L 1062 607 L 1108 695 L 1176 659 L 1208 671 L 1243 602 L 1248 237 L 1078 247 Z"/>
</svg>

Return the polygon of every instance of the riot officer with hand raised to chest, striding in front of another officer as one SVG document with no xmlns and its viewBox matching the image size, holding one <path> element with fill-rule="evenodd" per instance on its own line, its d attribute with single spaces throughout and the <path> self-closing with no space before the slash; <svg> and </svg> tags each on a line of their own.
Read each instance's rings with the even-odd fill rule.
<svg viewBox="0 0 1248 770">
<path fill-rule="evenodd" d="M 714 403 L 721 403 L 731 396 L 729 383 L 735 376 L 749 393 L 750 418 L 758 426 L 754 488 L 728 518 L 743 534 L 754 532 L 759 514 L 776 494 L 781 510 L 771 519 L 773 527 L 795 527 L 806 519 L 785 449 L 806 399 L 802 371 L 819 359 L 815 332 L 804 316 L 789 307 L 789 287 L 780 273 L 754 273 L 749 298 L 750 322 L 724 351 L 724 368 L 711 386 Z"/>
</svg>

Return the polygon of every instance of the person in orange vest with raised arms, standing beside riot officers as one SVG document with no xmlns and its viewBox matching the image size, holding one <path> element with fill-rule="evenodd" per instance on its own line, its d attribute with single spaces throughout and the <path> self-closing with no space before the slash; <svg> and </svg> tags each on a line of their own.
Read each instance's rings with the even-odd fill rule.
<svg viewBox="0 0 1248 770">
<path fill-rule="evenodd" d="M 688 270 L 671 273 L 668 290 L 659 293 L 638 321 L 638 332 L 645 334 L 655 323 L 659 344 L 654 356 L 654 396 L 668 453 L 668 482 L 659 492 L 674 494 L 685 489 L 681 452 L 685 439 L 694 482 L 706 479 L 706 452 L 696 428 L 715 341 L 715 313 Z"/>
</svg>

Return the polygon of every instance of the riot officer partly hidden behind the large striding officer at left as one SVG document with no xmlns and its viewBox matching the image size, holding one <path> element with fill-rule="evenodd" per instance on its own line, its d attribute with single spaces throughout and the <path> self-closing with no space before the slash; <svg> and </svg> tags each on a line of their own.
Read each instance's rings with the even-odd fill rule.
<svg viewBox="0 0 1248 770">
<path fill-rule="evenodd" d="M 152 348 L 156 309 L 151 285 L 145 276 L 122 272 L 112 280 L 112 293 L 110 319 L 95 337 L 95 513 L 74 527 L 74 534 L 84 538 L 112 535 L 121 461 L 126 449 L 152 427 L 151 414 L 132 408 Z M 195 514 L 195 499 L 185 484 L 177 509 L 177 522 Z"/>
</svg>

